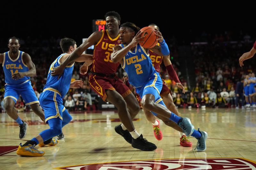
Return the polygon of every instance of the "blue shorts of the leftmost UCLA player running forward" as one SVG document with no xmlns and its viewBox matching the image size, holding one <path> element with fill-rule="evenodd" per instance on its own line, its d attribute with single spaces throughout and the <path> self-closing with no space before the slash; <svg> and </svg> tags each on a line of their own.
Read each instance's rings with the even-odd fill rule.
<svg viewBox="0 0 256 170">
<path fill-rule="evenodd" d="M 19 85 L 6 84 L 4 90 L 4 99 L 12 98 L 16 103 L 21 95 L 22 99 L 25 101 L 25 105 L 39 103 L 29 80 Z"/>
</svg>

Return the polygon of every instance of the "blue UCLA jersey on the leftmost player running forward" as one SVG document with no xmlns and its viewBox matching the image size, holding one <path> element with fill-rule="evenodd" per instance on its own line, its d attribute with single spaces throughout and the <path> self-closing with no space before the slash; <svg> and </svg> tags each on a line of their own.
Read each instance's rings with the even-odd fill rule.
<svg viewBox="0 0 256 170">
<path fill-rule="evenodd" d="M 23 77 L 18 80 L 12 79 L 13 74 L 28 71 L 28 66 L 22 59 L 23 54 L 24 52 L 19 51 L 18 57 L 15 60 L 12 60 L 9 51 L 4 53 L 3 69 L 6 84 L 19 85 L 30 79 L 30 77 Z"/>
</svg>

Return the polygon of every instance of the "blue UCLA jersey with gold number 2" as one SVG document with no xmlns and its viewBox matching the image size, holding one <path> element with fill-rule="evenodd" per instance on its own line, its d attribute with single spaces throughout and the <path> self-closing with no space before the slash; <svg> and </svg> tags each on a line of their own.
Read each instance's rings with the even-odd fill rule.
<svg viewBox="0 0 256 170">
<path fill-rule="evenodd" d="M 123 44 L 119 46 L 122 48 L 125 47 Z M 148 82 L 148 78 L 156 73 L 149 55 L 147 55 L 140 44 L 135 46 L 134 52 L 129 51 L 124 56 L 124 65 L 122 68 L 127 72 L 129 82 L 134 87 L 143 86 L 145 82 Z"/>
</svg>

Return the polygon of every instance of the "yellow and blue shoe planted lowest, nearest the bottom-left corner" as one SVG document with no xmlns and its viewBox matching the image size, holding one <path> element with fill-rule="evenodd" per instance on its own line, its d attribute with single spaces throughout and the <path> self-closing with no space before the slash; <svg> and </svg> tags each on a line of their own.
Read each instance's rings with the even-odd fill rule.
<svg viewBox="0 0 256 170">
<path fill-rule="evenodd" d="M 18 150 L 16 151 L 17 155 L 20 156 L 43 156 L 44 155 L 44 151 L 39 151 L 35 148 L 33 148 L 33 146 L 31 144 L 28 144 L 26 146 L 21 146 L 21 143 L 19 145 Z"/>
</svg>

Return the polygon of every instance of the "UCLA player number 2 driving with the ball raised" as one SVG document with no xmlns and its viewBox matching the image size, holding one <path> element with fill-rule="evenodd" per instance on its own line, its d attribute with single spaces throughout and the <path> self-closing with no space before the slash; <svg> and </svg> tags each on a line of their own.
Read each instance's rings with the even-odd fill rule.
<svg viewBox="0 0 256 170">
<path fill-rule="evenodd" d="M 163 55 L 169 55 L 167 44 L 163 41 L 162 35 L 155 30 L 159 37 L 161 47 L 152 48 L 154 51 L 161 51 Z M 151 111 L 154 115 L 162 115 L 178 124 L 187 136 L 196 137 L 198 143 L 196 151 L 206 150 L 207 133 L 195 130 L 188 118 L 182 118 L 169 111 L 162 98 L 160 91 L 162 89 L 162 79 L 152 65 L 151 59 L 143 47 L 138 43 L 143 42 L 143 32 L 133 23 L 124 23 L 119 29 L 120 40 L 122 44 L 113 48 L 111 59 L 114 63 L 120 62 L 122 68 L 129 76 L 129 82 L 136 87 L 136 92 L 142 96 L 141 105 L 145 110 Z"/>
</svg>

